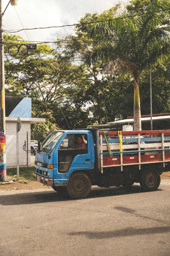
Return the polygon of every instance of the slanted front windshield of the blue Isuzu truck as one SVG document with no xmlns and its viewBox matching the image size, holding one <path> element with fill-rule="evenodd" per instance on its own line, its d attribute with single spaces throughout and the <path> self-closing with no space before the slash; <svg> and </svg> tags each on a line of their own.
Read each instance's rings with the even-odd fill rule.
<svg viewBox="0 0 170 256">
<path fill-rule="evenodd" d="M 41 152 L 48 152 L 51 153 L 59 139 L 64 134 L 63 131 L 54 131 L 51 132 L 47 138 L 41 144 Z"/>
</svg>

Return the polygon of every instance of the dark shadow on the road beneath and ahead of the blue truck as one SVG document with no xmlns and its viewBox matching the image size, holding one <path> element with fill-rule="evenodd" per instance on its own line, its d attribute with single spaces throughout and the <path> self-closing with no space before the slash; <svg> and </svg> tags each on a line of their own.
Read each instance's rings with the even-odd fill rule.
<svg viewBox="0 0 170 256">
<path fill-rule="evenodd" d="M 159 190 L 157 191 L 159 192 Z M 133 185 L 129 191 L 123 187 L 100 188 L 92 187 L 90 194 L 86 198 L 120 196 L 128 194 L 142 193 L 139 185 Z M 145 192 L 149 193 L 149 192 Z M 29 193 L 17 193 L 12 195 L 0 196 L 0 205 L 21 205 L 21 204 L 39 204 L 57 201 L 70 201 L 74 200 L 68 196 L 62 196 L 55 191 L 41 191 Z M 81 200 L 81 199 L 80 199 Z M 82 199 L 83 200 L 83 199 Z M 74 200 L 75 201 L 75 200 Z"/>
</svg>

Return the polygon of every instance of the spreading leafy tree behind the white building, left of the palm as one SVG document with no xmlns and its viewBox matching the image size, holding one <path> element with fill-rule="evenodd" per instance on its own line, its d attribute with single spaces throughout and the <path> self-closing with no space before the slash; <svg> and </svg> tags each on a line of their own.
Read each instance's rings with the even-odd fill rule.
<svg viewBox="0 0 170 256">
<path fill-rule="evenodd" d="M 7 38 L 21 40 L 16 36 Z M 87 72 L 82 65 L 71 61 L 69 50 L 61 44 L 56 44 L 53 49 L 43 45 L 39 48 L 41 50 L 24 59 L 19 54 L 9 59 L 6 53 L 6 95 L 31 97 L 32 116 L 49 120 L 46 124 L 32 125 L 33 131 L 66 126 L 68 129 L 64 116 L 70 120 L 70 127 L 82 126 L 83 119 L 88 120 L 88 112 L 82 113 L 82 105 L 76 110 L 73 108 L 77 93 L 89 83 Z"/>
</svg>

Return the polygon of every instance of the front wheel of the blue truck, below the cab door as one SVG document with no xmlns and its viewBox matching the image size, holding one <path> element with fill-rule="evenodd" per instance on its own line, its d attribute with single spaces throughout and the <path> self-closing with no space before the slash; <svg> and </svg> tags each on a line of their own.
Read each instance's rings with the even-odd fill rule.
<svg viewBox="0 0 170 256">
<path fill-rule="evenodd" d="M 92 188 L 92 182 L 87 174 L 83 172 L 74 173 L 67 184 L 67 192 L 74 199 L 86 197 Z"/>
</svg>

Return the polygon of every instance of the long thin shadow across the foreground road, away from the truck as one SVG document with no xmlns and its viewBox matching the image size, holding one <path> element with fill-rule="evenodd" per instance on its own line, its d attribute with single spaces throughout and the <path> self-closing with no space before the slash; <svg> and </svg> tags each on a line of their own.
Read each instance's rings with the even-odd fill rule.
<svg viewBox="0 0 170 256">
<path fill-rule="evenodd" d="M 161 234 L 161 233 L 169 233 L 170 226 L 164 227 L 154 227 L 154 228 L 126 228 L 120 230 L 113 231 L 104 231 L 104 232 L 89 232 L 89 231 L 81 231 L 81 232 L 70 232 L 69 235 L 74 236 L 87 236 L 89 239 L 109 239 L 114 237 L 124 237 L 124 236 L 135 236 L 135 235 L 148 235 L 148 234 Z"/>
</svg>

